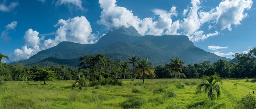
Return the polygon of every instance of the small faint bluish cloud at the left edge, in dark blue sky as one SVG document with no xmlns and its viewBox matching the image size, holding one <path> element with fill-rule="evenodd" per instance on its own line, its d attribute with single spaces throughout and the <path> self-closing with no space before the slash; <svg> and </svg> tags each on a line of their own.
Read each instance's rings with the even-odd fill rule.
<svg viewBox="0 0 256 109">
<path fill-rule="evenodd" d="M 15 31 L 15 27 L 17 26 L 17 22 L 18 21 L 13 21 L 10 24 L 5 26 L 6 29 L 4 31 L 2 31 L 2 33 L 1 33 L 1 37 L 0 37 L 1 40 L 5 41 L 5 42 L 11 40 L 11 37 L 8 36 L 9 30 L 14 30 Z"/>
</svg>

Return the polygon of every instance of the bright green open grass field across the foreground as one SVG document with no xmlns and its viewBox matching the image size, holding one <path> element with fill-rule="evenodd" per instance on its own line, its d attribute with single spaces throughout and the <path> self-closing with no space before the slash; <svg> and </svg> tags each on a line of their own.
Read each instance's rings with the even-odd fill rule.
<svg viewBox="0 0 256 109">
<path fill-rule="evenodd" d="M 0 87 L 0 109 L 240 109 L 241 98 L 256 89 L 246 79 L 223 80 L 221 97 L 211 100 L 197 92 L 200 79 L 178 79 L 177 83 L 146 79 L 144 85 L 136 86 L 127 80 L 123 86 L 83 87 L 82 91 L 70 87 L 74 81 L 42 83 L 5 82 Z"/>
</svg>

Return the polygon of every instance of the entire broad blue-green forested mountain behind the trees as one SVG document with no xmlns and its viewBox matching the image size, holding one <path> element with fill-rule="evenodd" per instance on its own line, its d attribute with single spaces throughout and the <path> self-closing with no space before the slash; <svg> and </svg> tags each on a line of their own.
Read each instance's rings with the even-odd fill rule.
<svg viewBox="0 0 256 109">
<path fill-rule="evenodd" d="M 206 52 L 194 45 L 187 36 L 163 35 L 141 36 L 130 26 L 110 29 L 110 31 L 95 44 L 77 44 L 61 42 L 55 47 L 42 50 L 29 59 L 19 61 L 24 65 L 49 66 L 49 64 L 77 67 L 78 59 L 83 55 L 104 54 L 113 60 L 136 55 L 141 59 L 148 58 L 154 66 L 169 63 L 172 56 L 178 56 L 185 64 L 195 64 L 211 60 L 226 59 Z M 78 63 L 78 64 L 77 64 Z"/>
</svg>

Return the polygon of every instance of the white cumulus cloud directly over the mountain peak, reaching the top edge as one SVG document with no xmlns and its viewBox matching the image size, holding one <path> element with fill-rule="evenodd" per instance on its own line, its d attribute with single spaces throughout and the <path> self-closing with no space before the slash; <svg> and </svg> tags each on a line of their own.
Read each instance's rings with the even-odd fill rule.
<svg viewBox="0 0 256 109">
<path fill-rule="evenodd" d="M 178 15 L 176 7 L 169 11 L 152 9 L 154 15 L 158 16 L 157 20 L 153 21 L 151 17 L 140 19 L 125 7 L 118 7 L 116 0 L 99 0 L 99 4 L 103 10 L 97 23 L 105 25 L 108 29 L 133 26 L 141 35 L 178 34 L 176 31 L 179 29 L 179 21 L 173 22 L 171 19 Z"/>
</svg>

